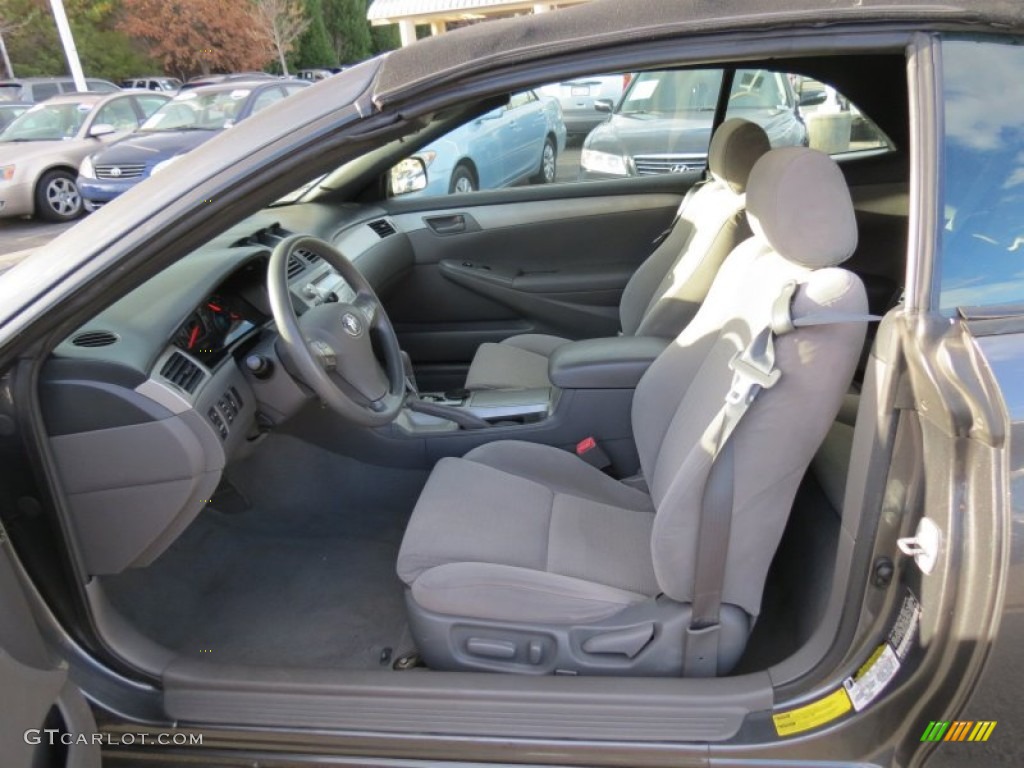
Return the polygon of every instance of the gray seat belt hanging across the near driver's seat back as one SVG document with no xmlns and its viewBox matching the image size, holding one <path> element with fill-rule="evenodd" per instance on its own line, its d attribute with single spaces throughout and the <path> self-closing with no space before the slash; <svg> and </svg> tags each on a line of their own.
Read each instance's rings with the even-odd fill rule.
<svg viewBox="0 0 1024 768">
<path fill-rule="evenodd" d="M 794 317 L 792 307 L 797 287 L 796 281 L 782 286 L 772 304 L 769 324 L 729 361 L 733 376 L 725 402 L 692 449 L 701 451 L 703 446 L 710 446 L 711 462 L 700 487 L 701 514 L 693 566 L 693 602 L 683 655 L 683 674 L 686 677 L 715 677 L 718 674 L 719 616 L 732 528 L 733 450 L 729 438 L 758 395 L 775 386 L 782 375 L 775 367 L 775 338 L 806 326 L 881 319 L 874 314 L 831 311 Z"/>
</svg>

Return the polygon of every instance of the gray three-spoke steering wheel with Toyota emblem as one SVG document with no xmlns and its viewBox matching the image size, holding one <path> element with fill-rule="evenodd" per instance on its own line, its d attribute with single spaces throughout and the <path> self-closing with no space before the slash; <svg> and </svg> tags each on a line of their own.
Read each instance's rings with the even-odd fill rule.
<svg viewBox="0 0 1024 768">
<path fill-rule="evenodd" d="M 288 290 L 288 261 L 299 250 L 333 266 L 355 298 L 326 302 L 297 316 Z M 282 356 L 298 377 L 351 422 L 376 427 L 394 421 L 406 399 L 401 350 L 377 294 L 352 262 L 322 240 L 294 234 L 270 254 L 267 292 L 284 345 Z M 372 333 L 383 352 L 383 367 L 374 354 Z"/>
</svg>

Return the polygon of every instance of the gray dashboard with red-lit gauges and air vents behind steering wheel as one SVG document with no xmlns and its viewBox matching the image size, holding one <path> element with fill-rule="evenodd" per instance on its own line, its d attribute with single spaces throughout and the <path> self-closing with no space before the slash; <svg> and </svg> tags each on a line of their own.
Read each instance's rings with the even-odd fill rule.
<svg viewBox="0 0 1024 768">
<path fill-rule="evenodd" d="M 274 355 L 267 267 L 296 233 L 333 244 L 378 292 L 413 265 L 408 238 L 378 209 L 268 208 L 119 299 L 44 365 L 41 411 L 90 574 L 151 563 L 210 502 L 224 468 L 308 399 L 291 377 L 268 387 L 245 365 L 254 351 Z M 354 297 L 308 250 L 292 254 L 287 281 L 300 315 Z M 275 411 L 274 398 L 286 404 Z"/>
</svg>

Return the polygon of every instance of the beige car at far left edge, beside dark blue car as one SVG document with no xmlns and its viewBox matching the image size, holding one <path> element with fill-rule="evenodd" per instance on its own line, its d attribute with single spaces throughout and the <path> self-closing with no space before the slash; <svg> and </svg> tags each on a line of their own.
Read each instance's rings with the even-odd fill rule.
<svg viewBox="0 0 1024 768">
<path fill-rule="evenodd" d="M 82 160 L 131 133 L 167 100 L 160 93 L 69 93 L 31 106 L 0 133 L 0 216 L 79 216 Z"/>
</svg>

